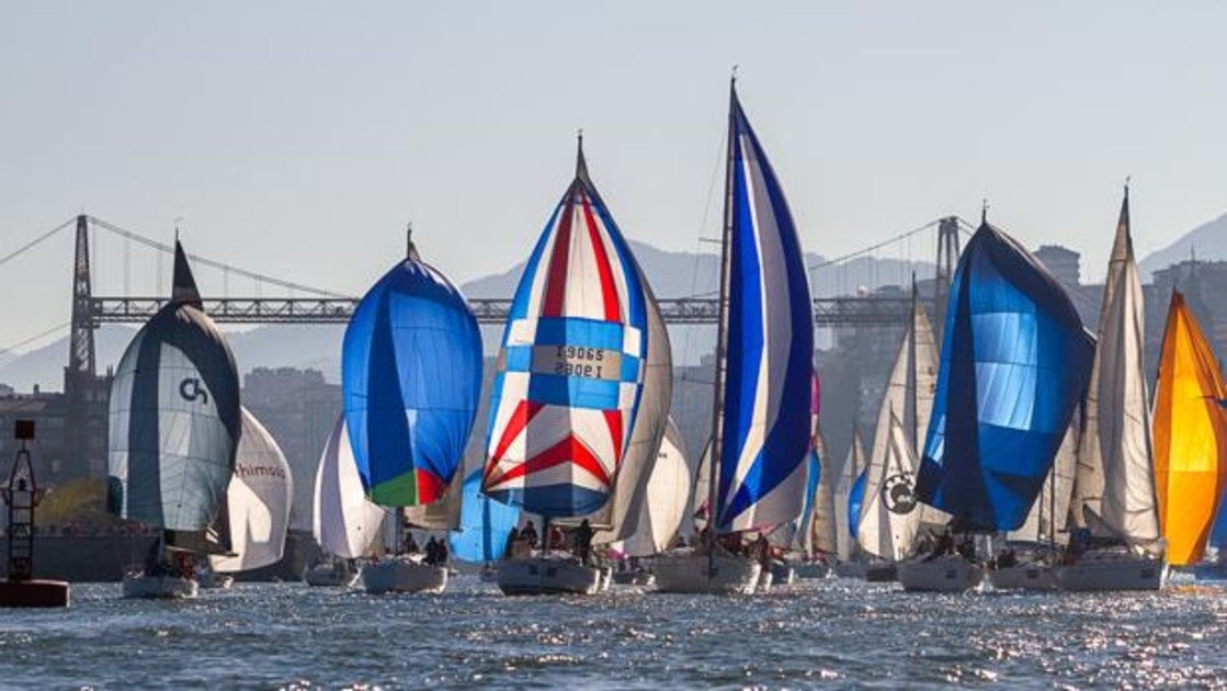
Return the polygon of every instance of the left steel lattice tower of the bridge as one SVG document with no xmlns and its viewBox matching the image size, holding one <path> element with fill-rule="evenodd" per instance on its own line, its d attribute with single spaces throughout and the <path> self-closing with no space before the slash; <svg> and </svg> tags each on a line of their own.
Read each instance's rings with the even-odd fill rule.
<svg viewBox="0 0 1227 691">
<path fill-rule="evenodd" d="M 77 216 L 72 263 L 72 323 L 69 365 L 64 368 L 63 475 L 101 475 L 107 448 L 107 404 L 110 377 L 98 378 L 94 362 L 90 282 L 90 217 Z"/>
</svg>

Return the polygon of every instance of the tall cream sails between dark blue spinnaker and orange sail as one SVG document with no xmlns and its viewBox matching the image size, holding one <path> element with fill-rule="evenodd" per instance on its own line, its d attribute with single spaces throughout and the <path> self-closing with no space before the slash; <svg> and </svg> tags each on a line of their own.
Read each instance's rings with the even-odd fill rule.
<svg viewBox="0 0 1227 691">
<path fill-rule="evenodd" d="M 1079 522 L 1099 523 L 1118 538 L 1158 554 L 1158 502 L 1151 458 L 1151 414 L 1142 357 L 1141 276 L 1129 234 L 1129 190 L 1103 286 L 1099 340 L 1087 388 L 1086 426 L 1079 447 Z M 1090 512 L 1099 522 L 1088 519 Z"/>
</svg>

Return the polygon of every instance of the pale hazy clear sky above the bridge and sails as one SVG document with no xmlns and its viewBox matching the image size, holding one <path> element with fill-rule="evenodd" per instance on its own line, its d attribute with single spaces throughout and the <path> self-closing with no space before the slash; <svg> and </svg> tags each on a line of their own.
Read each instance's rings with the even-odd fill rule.
<svg viewBox="0 0 1227 691">
<path fill-rule="evenodd" d="M 582 5 L 0 2 L 0 255 L 81 209 L 163 239 L 183 217 L 191 252 L 358 293 L 412 220 L 463 281 L 529 252 L 577 128 L 626 234 L 692 249 L 733 64 L 811 252 L 987 196 L 1101 276 L 1126 174 L 1140 254 L 1227 210 L 1227 2 Z M 98 244 L 120 292 L 124 244 Z M 70 248 L 0 268 L 0 347 L 67 320 Z"/>
</svg>

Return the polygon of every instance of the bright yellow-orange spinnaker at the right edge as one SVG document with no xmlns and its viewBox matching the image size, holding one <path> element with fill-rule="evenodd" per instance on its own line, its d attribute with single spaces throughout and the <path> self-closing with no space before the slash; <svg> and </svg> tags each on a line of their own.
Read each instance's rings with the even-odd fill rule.
<svg viewBox="0 0 1227 691">
<path fill-rule="evenodd" d="M 1167 313 L 1152 419 L 1167 561 L 1195 563 L 1227 482 L 1227 382 L 1179 292 Z"/>
</svg>

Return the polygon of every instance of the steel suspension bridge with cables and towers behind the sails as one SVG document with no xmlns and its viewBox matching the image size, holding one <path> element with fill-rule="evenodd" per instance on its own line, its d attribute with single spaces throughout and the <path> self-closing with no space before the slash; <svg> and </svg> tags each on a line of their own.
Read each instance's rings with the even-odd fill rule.
<svg viewBox="0 0 1227 691">
<path fill-rule="evenodd" d="M 104 439 L 107 410 L 104 401 L 109 398 L 110 378 L 99 377 L 94 353 L 94 331 L 102 324 L 141 324 L 151 318 L 166 303 L 166 285 L 163 266 L 174 248 L 146 234 L 124 228 L 115 223 L 81 214 L 59 226 L 34 236 L 25 244 L 0 257 L 0 266 L 15 261 L 32 249 L 52 238 L 75 228 L 72 254 L 72 297 L 71 318 L 33 338 L 26 339 L 9 350 L 34 342 L 44 338 L 59 336 L 69 331 L 69 361 L 64 368 L 65 448 L 74 457 L 66 459 L 70 465 L 83 466 L 91 457 L 103 458 L 104 449 L 94 449 L 97 439 Z M 936 255 L 935 274 L 931 290 L 924 292 L 930 313 L 941 323 L 941 312 L 950 290 L 950 280 L 958 261 L 960 233 L 971 232 L 962 218 L 950 216 L 925 223 L 918 228 L 896 234 L 882 242 L 870 244 L 856 252 L 826 259 L 810 265 L 811 280 L 823 271 L 839 271 L 860 258 L 877 258 L 883 248 L 903 247 L 921 233 L 934 233 Z M 121 254 L 110 260 L 123 266 L 123 281 L 119 290 L 112 295 L 96 292 L 96 277 L 99 265 L 96 257 L 99 233 L 118 238 Z M 94 242 L 91 242 L 94 241 Z M 133 290 L 131 254 L 134 248 L 142 248 L 156 255 L 156 281 L 146 288 L 146 295 Z M 344 324 L 350 319 L 358 298 L 333 291 L 269 276 L 266 274 L 243 269 L 215 259 L 188 255 L 198 272 L 201 268 L 217 270 L 222 274 L 223 296 L 204 298 L 204 308 L 213 320 L 222 324 Z M 933 257 L 933 255 L 930 255 Z M 910 258 L 909 258 L 910 260 Z M 139 271 L 146 279 L 147 272 Z M 109 275 L 109 274 L 108 274 Z M 229 293 L 231 280 L 250 281 L 254 295 L 234 297 Z M 114 282 L 114 281 L 112 281 Z M 890 281 L 877 281 L 888 284 Z M 898 284 L 907 280 L 897 277 Z M 859 286 L 858 286 L 859 287 Z M 283 292 L 282 296 L 269 296 L 266 292 Z M 910 297 L 906 291 L 893 295 L 880 295 L 871 291 L 854 290 L 853 296 L 818 297 L 814 299 L 814 318 L 818 328 L 882 328 L 899 326 L 909 315 Z M 161 293 L 161 295 L 152 295 Z M 481 324 L 502 324 L 510 309 L 509 296 L 471 297 L 470 303 Z M 691 297 L 667 297 L 660 301 L 661 315 L 672 325 L 714 324 L 719 314 L 719 301 L 712 295 Z M 99 403 L 103 405 L 99 406 Z M 80 458 L 77 458 L 80 457 Z"/>
</svg>

